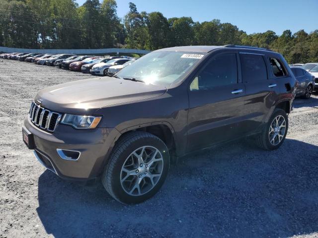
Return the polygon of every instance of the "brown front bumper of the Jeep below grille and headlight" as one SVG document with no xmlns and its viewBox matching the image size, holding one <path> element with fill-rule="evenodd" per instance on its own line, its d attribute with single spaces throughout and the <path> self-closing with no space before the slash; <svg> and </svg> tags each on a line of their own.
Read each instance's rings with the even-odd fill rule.
<svg viewBox="0 0 318 238">
<path fill-rule="evenodd" d="M 98 177 L 104 168 L 120 132 L 115 128 L 77 130 L 58 124 L 51 134 L 24 119 L 23 129 L 34 138 L 34 153 L 43 166 L 63 179 L 90 180 Z M 77 160 L 62 158 L 57 149 L 79 151 Z"/>
</svg>

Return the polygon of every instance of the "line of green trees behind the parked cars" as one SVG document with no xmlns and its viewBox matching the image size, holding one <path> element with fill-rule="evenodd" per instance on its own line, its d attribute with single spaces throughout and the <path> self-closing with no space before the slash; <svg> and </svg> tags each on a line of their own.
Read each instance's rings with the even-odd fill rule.
<svg viewBox="0 0 318 238">
<path fill-rule="evenodd" d="M 139 12 L 130 2 L 119 18 L 116 0 L 0 0 L 0 46 L 45 49 L 134 48 L 187 45 L 248 45 L 281 53 L 289 63 L 318 61 L 318 30 L 246 34 L 218 19 L 166 18 Z"/>
</svg>

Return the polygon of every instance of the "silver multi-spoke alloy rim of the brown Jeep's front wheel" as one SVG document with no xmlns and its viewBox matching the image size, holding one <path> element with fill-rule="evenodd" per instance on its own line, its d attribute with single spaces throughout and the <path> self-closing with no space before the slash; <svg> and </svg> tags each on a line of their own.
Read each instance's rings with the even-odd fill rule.
<svg viewBox="0 0 318 238">
<path fill-rule="evenodd" d="M 143 146 L 125 160 L 120 173 L 120 183 L 126 193 L 143 195 L 158 183 L 163 171 L 163 157 L 153 146 Z"/>
</svg>

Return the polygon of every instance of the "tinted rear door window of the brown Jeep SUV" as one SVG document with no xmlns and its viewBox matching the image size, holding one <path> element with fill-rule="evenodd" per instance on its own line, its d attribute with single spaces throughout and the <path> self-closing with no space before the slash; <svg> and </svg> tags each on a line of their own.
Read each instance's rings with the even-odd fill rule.
<svg viewBox="0 0 318 238">
<path fill-rule="evenodd" d="M 267 70 L 263 56 L 254 54 L 239 54 L 243 82 L 267 80 Z"/>
</svg>

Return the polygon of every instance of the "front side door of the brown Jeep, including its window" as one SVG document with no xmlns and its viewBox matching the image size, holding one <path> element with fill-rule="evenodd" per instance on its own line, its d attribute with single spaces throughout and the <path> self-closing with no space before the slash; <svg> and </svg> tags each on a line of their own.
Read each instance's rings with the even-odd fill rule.
<svg viewBox="0 0 318 238">
<path fill-rule="evenodd" d="M 187 151 L 239 136 L 244 85 L 240 81 L 238 54 L 221 53 L 200 69 L 189 87 Z"/>
</svg>

